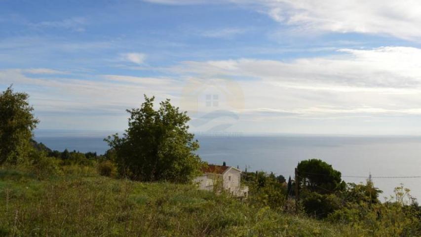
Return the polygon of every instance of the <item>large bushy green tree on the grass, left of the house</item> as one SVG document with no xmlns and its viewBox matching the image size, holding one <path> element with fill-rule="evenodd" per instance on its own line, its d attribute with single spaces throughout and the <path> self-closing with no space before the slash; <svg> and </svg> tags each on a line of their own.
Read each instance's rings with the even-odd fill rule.
<svg viewBox="0 0 421 237">
<path fill-rule="evenodd" d="M 115 150 L 118 171 L 134 180 L 189 182 L 201 166 L 193 153 L 199 144 L 188 132 L 190 118 L 168 99 L 154 110 L 153 100 L 145 95 L 140 108 L 127 110 L 128 129 L 122 137 L 105 139 Z"/>
</svg>

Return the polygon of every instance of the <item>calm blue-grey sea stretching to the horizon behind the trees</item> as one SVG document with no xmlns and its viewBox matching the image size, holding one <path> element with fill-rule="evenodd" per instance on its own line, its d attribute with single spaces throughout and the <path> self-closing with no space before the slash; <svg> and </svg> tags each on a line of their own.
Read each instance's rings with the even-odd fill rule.
<svg viewBox="0 0 421 237">
<path fill-rule="evenodd" d="M 35 140 L 53 150 L 104 154 L 103 139 L 115 132 L 39 130 Z M 197 154 L 205 161 L 294 177 L 298 162 L 322 159 L 342 173 L 345 182 L 365 183 L 370 174 L 383 191 L 381 199 L 394 197 L 403 185 L 421 198 L 421 137 L 199 134 Z"/>
</svg>

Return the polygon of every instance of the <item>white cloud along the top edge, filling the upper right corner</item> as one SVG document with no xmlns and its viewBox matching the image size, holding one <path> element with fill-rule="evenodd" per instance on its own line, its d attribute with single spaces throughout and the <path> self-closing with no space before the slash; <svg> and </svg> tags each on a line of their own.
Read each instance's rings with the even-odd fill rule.
<svg viewBox="0 0 421 237">
<path fill-rule="evenodd" d="M 160 4 L 208 4 L 204 0 L 147 0 Z M 421 38 L 421 2 L 417 0 L 220 0 L 268 14 L 295 31 L 355 32 Z"/>
</svg>

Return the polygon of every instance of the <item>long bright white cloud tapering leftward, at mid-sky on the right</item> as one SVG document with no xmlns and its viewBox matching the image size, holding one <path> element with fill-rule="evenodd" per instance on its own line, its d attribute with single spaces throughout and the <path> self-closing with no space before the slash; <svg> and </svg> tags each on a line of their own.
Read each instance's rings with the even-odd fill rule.
<svg viewBox="0 0 421 237">
<path fill-rule="evenodd" d="M 284 86 L 309 86 L 314 89 L 322 89 L 322 85 L 332 90 L 343 90 L 341 87 L 367 90 L 421 86 L 419 48 L 380 47 L 338 51 L 343 54 L 299 58 L 290 62 L 260 59 L 187 61 L 172 70 L 204 75 L 247 76 L 271 83 L 283 83 Z"/>
</svg>

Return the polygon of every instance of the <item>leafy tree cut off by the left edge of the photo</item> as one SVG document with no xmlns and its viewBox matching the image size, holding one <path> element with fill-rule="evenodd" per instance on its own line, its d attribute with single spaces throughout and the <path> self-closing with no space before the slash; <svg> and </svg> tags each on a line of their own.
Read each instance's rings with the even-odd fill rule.
<svg viewBox="0 0 421 237">
<path fill-rule="evenodd" d="M 32 130 L 38 119 L 28 103 L 29 95 L 13 92 L 12 86 L 0 94 L 0 164 L 17 163 L 30 150 Z"/>
</svg>

